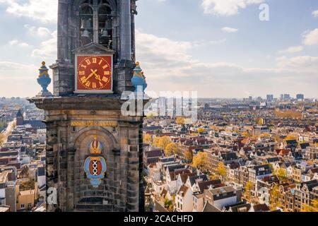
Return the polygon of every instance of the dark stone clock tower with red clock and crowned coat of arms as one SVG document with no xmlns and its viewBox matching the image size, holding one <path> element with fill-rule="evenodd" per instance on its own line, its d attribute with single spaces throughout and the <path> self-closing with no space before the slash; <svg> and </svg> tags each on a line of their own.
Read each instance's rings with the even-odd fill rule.
<svg viewBox="0 0 318 226">
<path fill-rule="evenodd" d="M 58 1 L 54 93 L 30 99 L 45 109 L 48 211 L 143 211 L 143 117 L 121 113 L 134 91 L 135 1 Z"/>
</svg>

